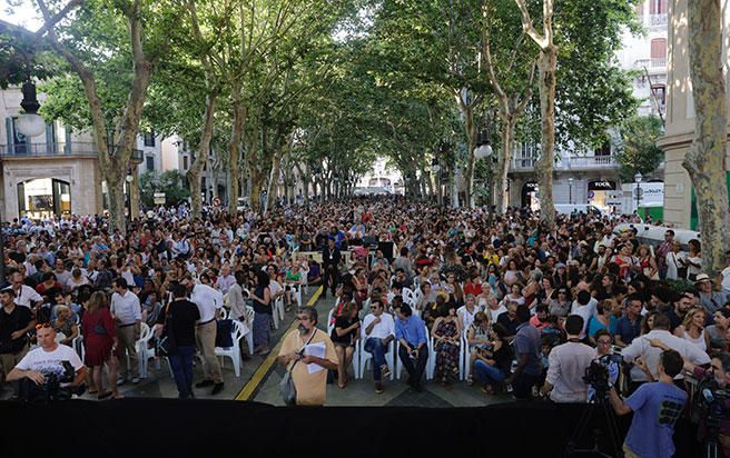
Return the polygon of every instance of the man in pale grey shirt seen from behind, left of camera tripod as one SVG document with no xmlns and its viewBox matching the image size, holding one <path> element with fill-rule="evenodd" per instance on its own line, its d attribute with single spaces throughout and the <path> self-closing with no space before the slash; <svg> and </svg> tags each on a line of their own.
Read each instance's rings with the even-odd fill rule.
<svg viewBox="0 0 730 458">
<path fill-rule="evenodd" d="M 583 376 L 585 368 L 595 358 L 595 350 L 579 340 L 582 329 L 582 317 L 579 315 L 568 317 L 565 320 L 568 341 L 550 352 L 550 366 L 542 392 L 550 394 L 553 402 L 585 402 L 586 400 L 588 385 L 583 381 Z"/>
</svg>

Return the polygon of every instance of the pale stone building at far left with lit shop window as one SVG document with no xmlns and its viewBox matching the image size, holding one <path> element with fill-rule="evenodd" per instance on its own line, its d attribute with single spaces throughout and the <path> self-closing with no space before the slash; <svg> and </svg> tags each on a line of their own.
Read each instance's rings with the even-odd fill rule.
<svg viewBox="0 0 730 458">
<path fill-rule="evenodd" d="M 41 106 L 46 99 L 38 94 Z M 0 91 L 0 221 L 101 213 L 107 207 L 106 183 L 93 136 L 48 121 L 43 133 L 26 138 L 17 129 L 21 100 L 20 88 Z M 162 169 L 161 142 L 150 133 L 138 137 L 125 187 L 132 195 L 128 200 L 132 215 L 138 211 L 134 183 L 139 175 Z"/>
</svg>

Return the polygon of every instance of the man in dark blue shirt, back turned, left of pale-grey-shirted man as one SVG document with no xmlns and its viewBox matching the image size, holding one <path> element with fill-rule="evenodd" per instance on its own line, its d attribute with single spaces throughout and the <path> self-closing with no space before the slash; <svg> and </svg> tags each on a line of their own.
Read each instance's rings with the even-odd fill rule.
<svg viewBox="0 0 730 458">
<path fill-rule="evenodd" d="M 532 398 L 532 387 L 540 380 L 542 364 L 540 359 L 540 331 L 530 325 L 530 309 L 525 305 L 517 307 L 516 319 L 520 322 L 514 337 L 514 351 L 517 355 L 517 367 L 505 380 L 512 385 L 516 399 Z"/>
</svg>

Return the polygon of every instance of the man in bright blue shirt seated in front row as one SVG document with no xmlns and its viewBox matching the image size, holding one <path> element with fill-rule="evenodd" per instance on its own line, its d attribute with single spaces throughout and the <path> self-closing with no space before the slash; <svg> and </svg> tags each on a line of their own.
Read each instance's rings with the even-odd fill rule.
<svg viewBox="0 0 730 458">
<path fill-rule="evenodd" d="M 395 320 L 395 338 L 401 342 L 398 356 L 403 367 L 408 371 L 408 385 L 421 391 L 423 389 L 421 378 L 428 359 L 426 327 L 421 318 L 413 315 L 407 303 L 395 309 L 395 313 L 398 317 Z"/>
</svg>

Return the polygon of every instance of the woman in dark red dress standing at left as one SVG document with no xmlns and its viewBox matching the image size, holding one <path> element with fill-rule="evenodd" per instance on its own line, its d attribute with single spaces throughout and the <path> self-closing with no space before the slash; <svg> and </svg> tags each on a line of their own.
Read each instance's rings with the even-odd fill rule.
<svg viewBox="0 0 730 458">
<path fill-rule="evenodd" d="M 118 347 L 117 331 L 111 312 L 108 308 L 107 295 L 97 291 L 91 295 L 83 318 L 81 319 L 81 333 L 86 349 L 85 364 L 91 370 L 91 389 L 89 394 L 97 392 L 99 399 L 114 396 L 121 398 L 117 390 L 117 356 L 114 354 Z M 111 391 L 103 388 L 103 365 L 109 368 L 109 384 Z"/>
</svg>

